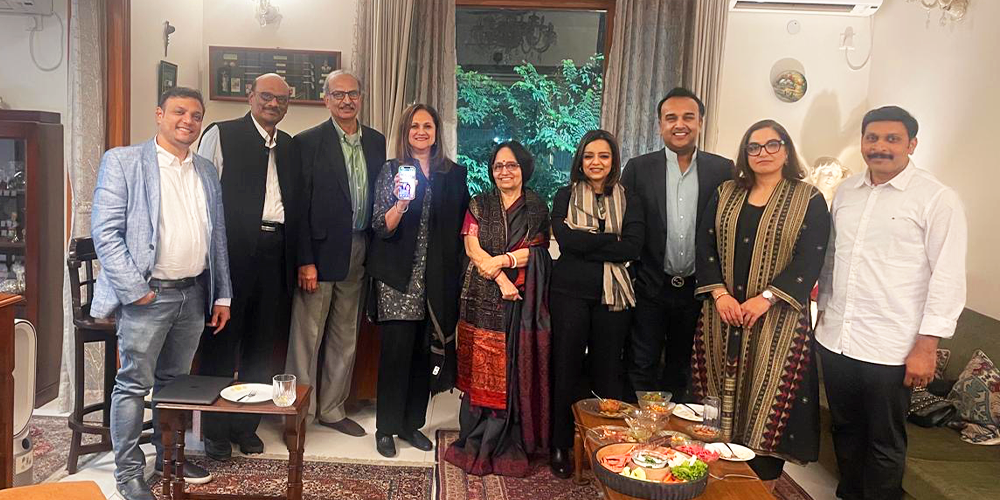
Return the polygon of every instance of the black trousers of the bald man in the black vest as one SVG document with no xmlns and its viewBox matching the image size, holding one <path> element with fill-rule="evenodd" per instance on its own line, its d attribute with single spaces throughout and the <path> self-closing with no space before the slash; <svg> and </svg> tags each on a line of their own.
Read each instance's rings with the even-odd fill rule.
<svg viewBox="0 0 1000 500">
<path fill-rule="evenodd" d="M 244 278 L 240 289 L 234 290 L 229 323 L 217 335 L 211 329 L 205 332 L 198 371 L 229 377 L 238 369 L 240 381 L 270 385 L 275 375 L 274 345 L 277 339 L 288 337 L 292 309 L 280 229 L 261 231 L 254 276 Z M 206 438 L 227 441 L 257 432 L 260 415 L 205 413 L 202 422 Z"/>
</svg>

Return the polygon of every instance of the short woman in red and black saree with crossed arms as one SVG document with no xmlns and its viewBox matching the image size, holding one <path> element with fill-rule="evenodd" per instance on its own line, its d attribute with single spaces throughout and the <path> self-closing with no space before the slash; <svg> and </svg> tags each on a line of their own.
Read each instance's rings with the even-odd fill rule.
<svg viewBox="0 0 1000 500">
<path fill-rule="evenodd" d="M 462 231 L 461 433 L 445 459 L 470 474 L 524 477 L 549 440 L 548 207 L 525 187 L 534 160 L 524 146 L 498 145 L 489 165 L 494 189 L 472 199 Z"/>
</svg>

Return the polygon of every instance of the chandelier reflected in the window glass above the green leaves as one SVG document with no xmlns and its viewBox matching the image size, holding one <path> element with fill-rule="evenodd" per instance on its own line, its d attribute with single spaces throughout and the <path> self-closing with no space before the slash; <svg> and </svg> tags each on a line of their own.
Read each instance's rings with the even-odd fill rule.
<svg viewBox="0 0 1000 500">
<path fill-rule="evenodd" d="M 515 50 L 524 55 L 541 54 L 556 43 L 556 38 L 552 22 L 546 23 L 545 16 L 536 12 L 485 14 L 472 28 L 473 45 L 499 50 L 506 56 Z"/>
</svg>

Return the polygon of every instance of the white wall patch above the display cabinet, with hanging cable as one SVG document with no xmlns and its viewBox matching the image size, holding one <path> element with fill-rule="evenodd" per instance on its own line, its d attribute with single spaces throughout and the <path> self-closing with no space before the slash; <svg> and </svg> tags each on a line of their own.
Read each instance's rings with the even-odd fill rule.
<svg viewBox="0 0 1000 500">
<path fill-rule="evenodd" d="M 64 33 L 69 21 L 66 0 L 54 2 L 55 12 L 62 17 Z M 51 72 L 39 70 L 28 51 L 34 21 L 25 16 L 0 15 L 0 96 L 14 109 L 53 111 L 66 118 L 66 37 L 60 47 L 60 25 L 54 16 L 43 18 L 43 30 L 35 33 L 35 56 L 39 64 L 48 67 L 62 64 Z"/>
</svg>

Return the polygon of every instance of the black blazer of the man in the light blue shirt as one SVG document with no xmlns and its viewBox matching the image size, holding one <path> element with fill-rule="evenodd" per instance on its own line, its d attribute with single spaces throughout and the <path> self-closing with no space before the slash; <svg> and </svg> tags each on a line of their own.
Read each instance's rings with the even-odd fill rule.
<svg viewBox="0 0 1000 500">
<path fill-rule="evenodd" d="M 701 227 L 708 200 L 723 181 L 732 178 L 733 162 L 698 151 L 698 216 Z M 646 240 L 639 255 L 636 293 L 656 297 L 663 288 L 663 259 L 667 244 L 667 157 L 664 150 L 629 160 L 622 172 L 622 185 L 641 202 L 646 214 Z"/>
</svg>

